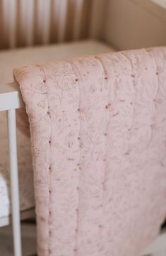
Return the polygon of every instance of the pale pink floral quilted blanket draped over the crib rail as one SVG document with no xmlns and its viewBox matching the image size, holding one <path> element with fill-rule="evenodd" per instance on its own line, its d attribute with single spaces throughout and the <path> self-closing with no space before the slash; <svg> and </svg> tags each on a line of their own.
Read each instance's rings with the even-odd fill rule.
<svg viewBox="0 0 166 256">
<path fill-rule="evenodd" d="M 38 255 L 137 256 L 166 215 L 166 48 L 14 69 Z"/>
</svg>

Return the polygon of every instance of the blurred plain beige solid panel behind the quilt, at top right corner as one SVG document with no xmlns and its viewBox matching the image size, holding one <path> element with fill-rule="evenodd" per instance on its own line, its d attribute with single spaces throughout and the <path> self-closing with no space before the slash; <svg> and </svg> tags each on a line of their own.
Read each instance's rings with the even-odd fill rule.
<svg viewBox="0 0 166 256">
<path fill-rule="evenodd" d="M 117 50 L 166 45 L 166 9 L 150 0 L 106 2 L 102 38 Z"/>
</svg>

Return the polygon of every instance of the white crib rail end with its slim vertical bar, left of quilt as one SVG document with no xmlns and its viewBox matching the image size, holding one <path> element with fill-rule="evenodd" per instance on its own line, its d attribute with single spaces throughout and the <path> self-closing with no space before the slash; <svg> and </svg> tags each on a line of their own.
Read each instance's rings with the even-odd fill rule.
<svg viewBox="0 0 166 256">
<path fill-rule="evenodd" d="M 7 112 L 8 148 L 11 178 L 11 213 L 13 226 L 14 255 L 21 256 L 20 206 L 18 187 L 18 159 L 16 143 L 16 108 L 23 107 L 23 100 L 16 83 L 0 86 L 0 111 Z"/>
</svg>

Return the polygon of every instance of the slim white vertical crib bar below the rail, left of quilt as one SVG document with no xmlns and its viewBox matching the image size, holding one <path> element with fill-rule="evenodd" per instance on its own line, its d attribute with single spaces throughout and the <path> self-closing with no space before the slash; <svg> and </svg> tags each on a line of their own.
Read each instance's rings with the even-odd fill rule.
<svg viewBox="0 0 166 256">
<path fill-rule="evenodd" d="M 8 145 L 10 157 L 11 175 L 11 204 L 12 204 L 12 224 L 13 224 L 13 245 L 14 256 L 21 256 L 21 234 L 20 234 L 20 206 L 18 188 L 18 162 L 16 145 L 16 110 L 7 111 L 8 119 Z"/>
</svg>

